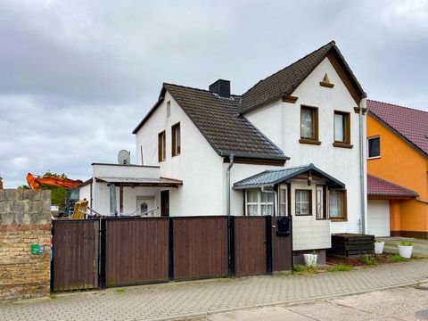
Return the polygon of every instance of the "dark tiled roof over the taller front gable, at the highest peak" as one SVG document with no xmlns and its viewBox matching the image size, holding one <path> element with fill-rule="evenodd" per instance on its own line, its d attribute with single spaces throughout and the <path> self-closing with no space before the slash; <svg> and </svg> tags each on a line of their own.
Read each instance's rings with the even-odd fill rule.
<svg viewBox="0 0 428 321">
<path fill-rule="evenodd" d="M 299 61 L 292 63 L 283 70 L 277 71 L 275 74 L 260 80 L 259 83 L 252 86 L 245 94 L 243 94 L 243 105 L 241 112 L 251 111 L 259 107 L 261 104 L 268 103 L 272 100 L 291 95 L 297 86 L 309 76 L 317 65 L 323 61 L 326 54 L 333 50 L 338 61 L 342 63 L 345 72 L 348 73 L 350 80 L 358 89 L 358 94 L 361 97 L 366 97 L 366 93 L 358 83 L 357 78 L 353 75 L 349 65 L 345 62 L 342 53 L 335 45 L 334 41 L 323 45 L 313 53 L 309 53 Z"/>
</svg>

